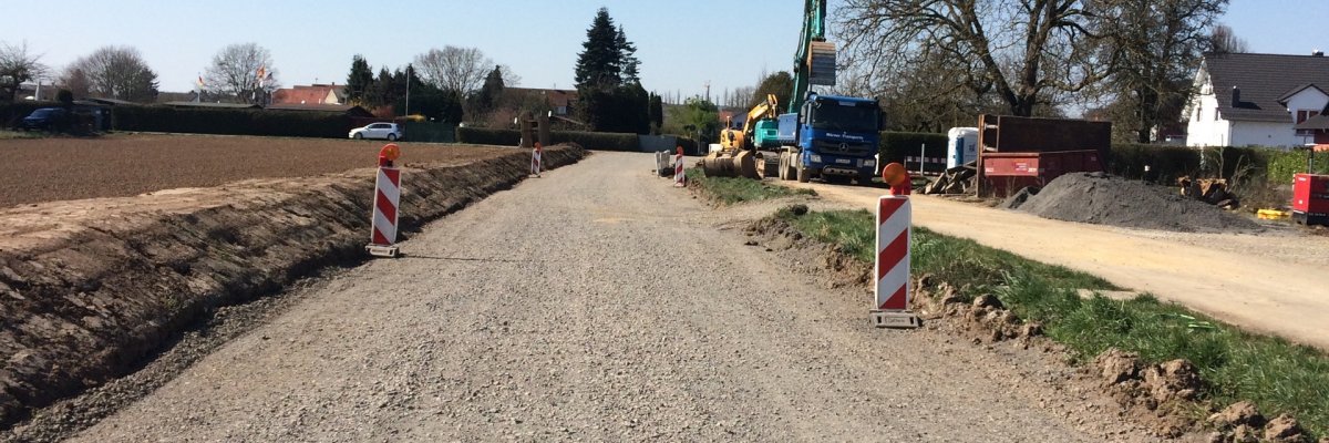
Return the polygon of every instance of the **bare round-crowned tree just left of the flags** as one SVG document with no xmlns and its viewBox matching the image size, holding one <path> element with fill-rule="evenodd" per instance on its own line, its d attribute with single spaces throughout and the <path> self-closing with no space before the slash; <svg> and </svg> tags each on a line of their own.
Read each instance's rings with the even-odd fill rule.
<svg viewBox="0 0 1329 443">
<path fill-rule="evenodd" d="M 259 68 L 264 77 L 259 78 Z M 276 68 L 272 67 L 272 55 L 254 43 L 233 44 L 213 56 L 213 63 L 207 65 L 207 89 L 234 96 L 245 102 L 256 102 L 262 97 L 262 88 L 272 89 L 279 86 L 276 81 Z"/>
</svg>

